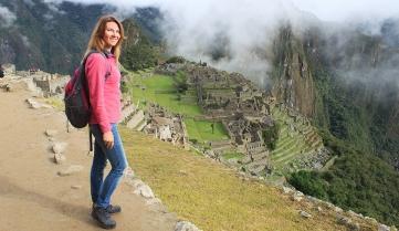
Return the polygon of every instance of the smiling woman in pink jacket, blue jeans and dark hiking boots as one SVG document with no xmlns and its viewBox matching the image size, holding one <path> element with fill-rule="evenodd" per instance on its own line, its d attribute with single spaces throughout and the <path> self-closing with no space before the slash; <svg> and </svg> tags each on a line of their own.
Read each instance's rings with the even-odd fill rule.
<svg viewBox="0 0 399 231">
<path fill-rule="evenodd" d="M 120 72 L 117 64 L 123 38 L 122 23 L 114 17 L 102 17 L 93 30 L 85 55 L 88 55 L 85 72 L 92 107 L 90 128 L 95 137 L 91 170 L 92 217 L 104 229 L 116 225 L 111 213 L 120 212 L 120 207 L 112 206 L 109 201 L 127 166 L 117 129 L 120 117 Z M 107 159 L 112 169 L 103 180 Z"/>
</svg>

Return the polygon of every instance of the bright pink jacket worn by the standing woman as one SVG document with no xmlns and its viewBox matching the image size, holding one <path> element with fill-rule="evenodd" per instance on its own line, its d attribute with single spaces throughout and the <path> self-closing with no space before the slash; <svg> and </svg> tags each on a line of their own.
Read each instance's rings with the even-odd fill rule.
<svg viewBox="0 0 399 231">
<path fill-rule="evenodd" d="M 85 71 L 92 106 L 90 124 L 98 124 L 104 134 L 120 119 L 120 72 L 115 55 L 91 54 Z"/>
</svg>

